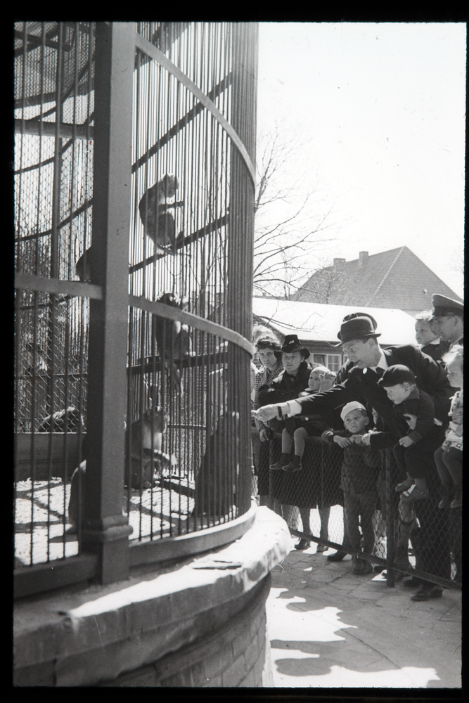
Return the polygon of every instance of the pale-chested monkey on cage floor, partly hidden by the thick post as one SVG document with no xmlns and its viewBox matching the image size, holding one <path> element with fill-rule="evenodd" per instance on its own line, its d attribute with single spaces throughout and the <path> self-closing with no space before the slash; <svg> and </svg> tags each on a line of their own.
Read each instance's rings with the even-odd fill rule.
<svg viewBox="0 0 469 703">
<path fill-rule="evenodd" d="M 155 486 L 160 479 L 163 465 L 169 467 L 177 465 L 177 458 L 174 454 L 169 456 L 161 451 L 162 436 L 167 428 L 167 421 L 167 412 L 157 406 L 147 408 L 138 420 L 131 423 L 130 437 L 129 432 L 126 431 L 124 485 L 130 484 L 133 489 L 149 489 L 151 486 Z M 129 442 L 130 456 L 128 453 Z M 79 474 L 81 473 L 83 479 L 86 473 L 87 453 L 88 447 L 85 438 L 82 451 L 84 460 L 72 474 L 68 501 L 68 522 L 71 527 L 67 530 L 67 534 L 76 534 L 77 532 Z"/>
</svg>

